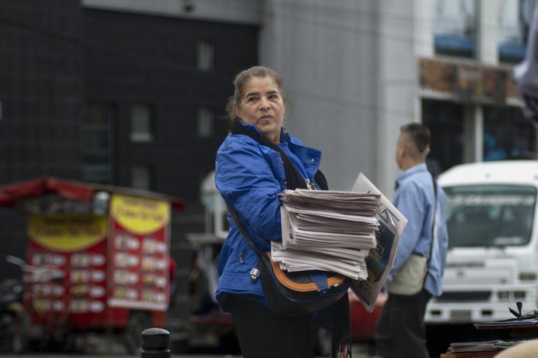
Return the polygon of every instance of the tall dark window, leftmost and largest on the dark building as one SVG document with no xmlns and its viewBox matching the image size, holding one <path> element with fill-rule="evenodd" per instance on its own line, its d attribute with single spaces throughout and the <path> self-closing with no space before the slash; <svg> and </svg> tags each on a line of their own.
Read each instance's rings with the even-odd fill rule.
<svg viewBox="0 0 538 358">
<path fill-rule="evenodd" d="M 82 180 L 113 184 L 115 105 L 87 103 L 82 123 Z"/>
</svg>

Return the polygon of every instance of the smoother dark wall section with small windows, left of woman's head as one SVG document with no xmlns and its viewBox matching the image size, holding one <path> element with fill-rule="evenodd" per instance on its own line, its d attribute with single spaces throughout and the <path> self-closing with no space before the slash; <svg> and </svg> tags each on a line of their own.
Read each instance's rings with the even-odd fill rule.
<svg viewBox="0 0 538 358">
<path fill-rule="evenodd" d="M 133 165 L 154 167 L 152 190 L 197 201 L 200 181 L 215 165 L 227 132 L 232 80 L 256 64 L 256 27 L 84 10 L 87 100 L 118 107 L 117 183 L 129 186 Z M 215 45 L 215 69 L 196 68 L 198 40 Z M 131 105 L 154 107 L 152 143 L 129 140 Z M 197 136 L 198 106 L 215 111 L 215 135 Z"/>
</svg>

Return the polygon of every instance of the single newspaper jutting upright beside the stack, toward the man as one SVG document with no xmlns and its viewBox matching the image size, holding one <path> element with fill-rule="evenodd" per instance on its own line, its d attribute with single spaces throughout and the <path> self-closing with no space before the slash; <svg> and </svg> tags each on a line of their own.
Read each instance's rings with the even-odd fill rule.
<svg viewBox="0 0 538 358">
<path fill-rule="evenodd" d="M 358 174 L 351 191 L 381 195 L 381 210 L 377 214 L 379 221 L 379 230 L 376 233 L 377 246 L 370 250 L 366 258 L 368 279 L 358 279 L 351 283 L 351 290 L 368 311 L 372 312 L 377 295 L 391 272 L 398 241 L 407 224 L 407 219 L 363 173 Z"/>
</svg>

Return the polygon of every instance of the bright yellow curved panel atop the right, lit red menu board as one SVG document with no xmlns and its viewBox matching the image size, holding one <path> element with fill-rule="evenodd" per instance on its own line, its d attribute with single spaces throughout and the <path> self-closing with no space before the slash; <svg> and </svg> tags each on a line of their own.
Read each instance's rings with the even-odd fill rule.
<svg viewBox="0 0 538 358">
<path fill-rule="evenodd" d="M 112 195 L 110 216 L 133 234 L 151 234 L 170 221 L 170 204 L 161 200 Z"/>
</svg>

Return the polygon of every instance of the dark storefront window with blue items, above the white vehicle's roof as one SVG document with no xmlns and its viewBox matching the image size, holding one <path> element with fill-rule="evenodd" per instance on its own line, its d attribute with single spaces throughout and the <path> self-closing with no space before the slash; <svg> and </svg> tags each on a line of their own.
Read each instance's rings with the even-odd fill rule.
<svg viewBox="0 0 538 358">
<path fill-rule="evenodd" d="M 518 107 L 484 107 L 484 161 L 537 158 L 536 129 Z"/>
</svg>

